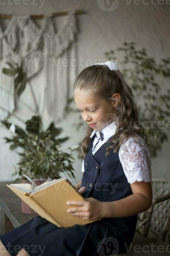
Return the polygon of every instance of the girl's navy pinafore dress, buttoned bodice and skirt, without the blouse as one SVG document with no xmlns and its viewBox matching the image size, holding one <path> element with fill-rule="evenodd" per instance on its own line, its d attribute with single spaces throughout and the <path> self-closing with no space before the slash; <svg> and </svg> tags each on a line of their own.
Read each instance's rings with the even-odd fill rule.
<svg viewBox="0 0 170 256">
<path fill-rule="evenodd" d="M 82 195 L 84 198 L 94 197 L 102 202 L 132 195 L 132 189 L 119 160 L 119 150 L 106 157 L 105 142 L 93 155 L 91 150 L 94 138 L 95 136 L 84 158 L 81 187 L 85 186 L 86 190 Z M 108 143 L 109 140 L 107 145 Z M 90 224 L 62 228 L 37 216 L 0 236 L 0 239 L 12 256 L 17 255 L 21 248 L 30 256 L 111 255 L 126 252 L 135 233 L 137 218 L 138 214 L 102 218 Z"/>
</svg>

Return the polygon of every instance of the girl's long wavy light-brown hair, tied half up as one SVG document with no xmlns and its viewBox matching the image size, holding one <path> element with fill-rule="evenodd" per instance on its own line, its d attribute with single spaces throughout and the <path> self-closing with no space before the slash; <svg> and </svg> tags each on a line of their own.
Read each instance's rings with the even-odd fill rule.
<svg viewBox="0 0 170 256">
<path fill-rule="evenodd" d="M 148 147 L 151 144 L 147 138 L 145 129 L 139 122 L 133 92 L 128 85 L 127 87 L 130 95 L 124 90 L 121 79 L 116 72 L 110 70 L 106 65 L 93 65 L 83 69 L 73 85 L 73 92 L 85 90 L 90 96 L 105 100 L 106 102 L 114 99 L 112 97 L 114 93 L 119 93 L 121 96 L 120 101 L 116 99 L 119 101 L 119 104 L 114 107 L 115 119 L 113 121 L 115 121 L 117 129 L 115 134 L 108 140 L 108 143 L 105 143 L 107 149 L 106 156 L 111 150 L 113 153 L 117 153 L 122 143 L 126 142 L 129 137 L 133 137 L 138 143 L 139 137 L 136 137 L 136 134 L 144 139 Z M 133 108 L 133 102 L 136 109 Z M 90 135 L 93 130 L 90 126 L 87 128 L 86 135 L 81 144 L 79 155 L 81 161 L 83 161 L 89 150 L 89 144 L 93 139 L 90 138 Z M 140 147 L 144 149 L 142 144 L 140 144 Z"/>
</svg>

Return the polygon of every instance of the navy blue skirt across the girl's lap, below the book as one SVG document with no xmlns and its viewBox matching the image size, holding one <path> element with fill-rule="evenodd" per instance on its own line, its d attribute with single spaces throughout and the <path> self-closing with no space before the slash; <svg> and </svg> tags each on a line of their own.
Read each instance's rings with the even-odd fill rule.
<svg viewBox="0 0 170 256">
<path fill-rule="evenodd" d="M 17 255 L 21 248 L 30 256 L 102 256 L 125 252 L 125 243 L 128 246 L 132 240 L 127 240 L 128 232 L 126 230 L 123 234 L 105 218 L 62 228 L 37 216 L 0 236 L 0 240 L 12 256 Z M 114 246 L 110 247 L 110 243 Z"/>
</svg>

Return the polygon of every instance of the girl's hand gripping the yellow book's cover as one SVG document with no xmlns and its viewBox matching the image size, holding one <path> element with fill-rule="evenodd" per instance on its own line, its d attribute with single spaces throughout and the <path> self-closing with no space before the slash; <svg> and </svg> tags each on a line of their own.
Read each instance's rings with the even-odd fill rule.
<svg viewBox="0 0 170 256">
<path fill-rule="evenodd" d="M 87 220 L 104 218 L 106 212 L 105 203 L 93 197 L 85 198 L 85 200 L 69 201 L 68 205 L 77 205 L 77 207 L 68 209 L 70 214 Z"/>
</svg>

